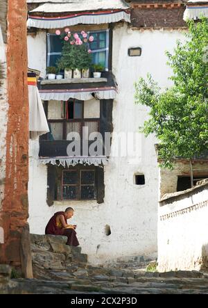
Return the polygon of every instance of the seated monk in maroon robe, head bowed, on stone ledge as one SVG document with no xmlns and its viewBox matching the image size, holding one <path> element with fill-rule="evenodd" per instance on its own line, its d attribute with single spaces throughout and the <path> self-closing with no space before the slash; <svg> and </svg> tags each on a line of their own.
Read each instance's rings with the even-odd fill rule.
<svg viewBox="0 0 208 308">
<path fill-rule="evenodd" d="M 67 236 L 67 245 L 78 246 L 79 242 L 76 237 L 76 225 L 68 225 L 67 219 L 73 216 L 73 209 L 68 207 L 64 212 L 57 212 L 46 225 L 45 234 Z"/>
</svg>

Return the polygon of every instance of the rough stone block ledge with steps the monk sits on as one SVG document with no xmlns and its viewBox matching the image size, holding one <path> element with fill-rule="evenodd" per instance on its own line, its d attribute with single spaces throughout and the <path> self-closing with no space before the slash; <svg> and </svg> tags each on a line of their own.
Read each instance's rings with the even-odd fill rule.
<svg viewBox="0 0 208 308">
<path fill-rule="evenodd" d="M 87 254 L 80 247 L 66 245 L 66 236 L 31 234 L 34 273 L 40 270 L 67 270 L 71 266 L 87 266 Z"/>
</svg>

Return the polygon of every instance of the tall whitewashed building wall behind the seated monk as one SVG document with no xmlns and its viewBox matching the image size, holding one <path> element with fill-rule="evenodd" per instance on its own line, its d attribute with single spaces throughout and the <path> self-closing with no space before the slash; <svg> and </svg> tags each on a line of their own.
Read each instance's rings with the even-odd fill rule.
<svg viewBox="0 0 208 308">
<path fill-rule="evenodd" d="M 116 147 L 116 133 L 137 132 L 148 117 L 144 106 L 134 103 L 134 82 L 148 72 L 163 88 L 170 85 L 171 71 L 166 66 L 165 50 L 173 51 L 180 31 L 132 31 L 127 25 L 116 25 L 113 31 L 113 72 L 119 86 L 114 100 L 112 152 Z M 44 74 L 46 65 L 45 34 L 37 35 L 40 51 L 35 53 L 35 38 L 28 38 L 29 63 Z M 37 46 L 37 45 L 36 45 Z M 141 57 L 129 57 L 128 47 L 141 47 Z M 37 55 L 38 58 L 37 59 Z M 33 58 L 35 57 L 35 65 Z M 46 204 L 46 166 L 38 164 L 38 141 L 30 145 L 29 223 L 31 233 L 43 234 L 46 223 L 56 211 L 67 206 L 75 209 L 74 223 L 83 252 L 92 264 L 103 264 L 116 259 L 127 260 L 131 256 L 155 257 L 157 255 L 157 200 L 158 168 L 155 154 L 155 138 L 137 140 L 135 157 L 112 157 L 105 167 L 105 200 L 54 202 Z M 123 147 L 122 147 L 123 148 Z M 135 173 L 145 175 L 146 184 L 137 186 Z M 105 225 L 110 225 L 110 236 L 105 235 Z"/>
</svg>

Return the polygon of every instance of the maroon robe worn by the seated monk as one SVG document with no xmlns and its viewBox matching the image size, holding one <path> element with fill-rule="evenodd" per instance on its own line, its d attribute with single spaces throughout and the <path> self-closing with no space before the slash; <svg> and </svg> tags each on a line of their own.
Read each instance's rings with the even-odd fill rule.
<svg viewBox="0 0 208 308">
<path fill-rule="evenodd" d="M 67 224 L 67 218 L 64 215 L 64 212 L 57 212 L 53 215 L 53 217 L 49 220 L 49 222 L 46 225 L 45 234 L 52 234 L 52 235 L 63 235 L 67 236 L 67 245 L 70 246 L 78 246 L 79 242 L 76 237 L 76 231 L 73 229 L 64 229 L 57 226 L 56 218 L 58 215 L 63 215 L 64 220 Z"/>
</svg>

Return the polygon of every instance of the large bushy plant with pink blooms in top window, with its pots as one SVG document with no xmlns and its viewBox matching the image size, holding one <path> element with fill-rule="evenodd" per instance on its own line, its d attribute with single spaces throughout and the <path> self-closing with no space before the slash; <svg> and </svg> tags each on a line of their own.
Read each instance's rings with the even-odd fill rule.
<svg viewBox="0 0 208 308">
<path fill-rule="evenodd" d="M 88 38 L 85 31 L 72 35 L 69 28 L 64 29 L 64 34 L 61 34 L 60 30 L 55 33 L 64 39 L 62 56 L 57 63 L 58 67 L 64 70 L 64 78 L 89 77 L 89 67 L 92 64 L 89 42 L 92 42 L 94 37 L 91 35 Z"/>
</svg>

